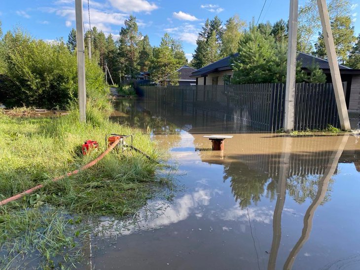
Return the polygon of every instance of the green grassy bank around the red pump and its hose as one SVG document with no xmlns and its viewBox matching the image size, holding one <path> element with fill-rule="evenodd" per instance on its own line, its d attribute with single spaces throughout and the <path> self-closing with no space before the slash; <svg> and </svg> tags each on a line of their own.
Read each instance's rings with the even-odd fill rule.
<svg viewBox="0 0 360 270">
<path fill-rule="evenodd" d="M 149 135 L 108 121 L 104 112 L 87 109 L 87 123 L 77 110 L 56 118 L 16 118 L 0 113 L 0 201 L 40 183 L 44 187 L 19 201 L 0 206 L 0 268 L 35 261 L 36 267 L 71 266 L 91 231 L 87 218 L 135 213 L 155 190 L 161 166 L 134 151 L 112 151 L 94 167 L 58 182 L 51 179 L 95 159 L 106 149 L 105 135 L 134 135 L 134 146 L 153 160 L 160 153 Z M 85 140 L 100 144 L 81 155 Z M 166 181 L 165 181 L 166 182 Z M 22 265 L 24 266 L 24 265 Z"/>
</svg>

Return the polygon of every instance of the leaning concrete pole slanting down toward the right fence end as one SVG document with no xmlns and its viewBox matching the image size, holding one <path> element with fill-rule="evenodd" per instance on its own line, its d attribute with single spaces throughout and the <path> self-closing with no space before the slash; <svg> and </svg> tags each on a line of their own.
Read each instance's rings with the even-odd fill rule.
<svg viewBox="0 0 360 270">
<path fill-rule="evenodd" d="M 337 111 L 339 113 L 342 130 L 350 130 L 349 114 L 346 108 L 344 89 L 341 82 L 339 65 L 337 63 L 334 38 L 332 36 L 329 13 L 326 6 L 326 0 L 317 0 L 321 24 L 323 26 L 323 35 L 329 61 L 332 84 L 334 86 Z"/>
</svg>

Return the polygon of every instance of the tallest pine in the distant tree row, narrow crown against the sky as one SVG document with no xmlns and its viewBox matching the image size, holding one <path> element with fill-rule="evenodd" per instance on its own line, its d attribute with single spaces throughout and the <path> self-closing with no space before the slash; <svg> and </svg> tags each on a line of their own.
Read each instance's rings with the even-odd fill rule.
<svg viewBox="0 0 360 270">
<path fill-rule="evenodd" d="M 141 34 L 138 32 L 138 24 L 136 17 L 130 15 L 129 19 L 126 19 L 125 27 L 121 27 L 119 37 L 119 57 L 122 62 L 122 71 L 130 73 L 132 77 L 135 77 L 139 69 L 139 41 L 141 40 Z M 126 71 L 128 70 L 128 71 Z"/>
</svg>

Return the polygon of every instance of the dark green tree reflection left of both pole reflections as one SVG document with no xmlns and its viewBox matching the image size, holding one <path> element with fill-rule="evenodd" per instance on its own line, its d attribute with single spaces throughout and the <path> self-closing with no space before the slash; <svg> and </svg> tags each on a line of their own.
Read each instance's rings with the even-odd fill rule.
<svg viewBox="0 0 360 270">
<path fill-rule="evenodd" d="M 233 162 L 224 167 L 224 181 L 230 178 L 230 186 L 235 200 L 240 202 L 242 209 L 261 200 L 265 193 L 266 198 L 274 200 L 276 196 L 276 182 L 268 177 L 267 173 L 249 169 L 240 162 Z M 266 188 L 265 188 L 265 185 Z"/>
</svg>

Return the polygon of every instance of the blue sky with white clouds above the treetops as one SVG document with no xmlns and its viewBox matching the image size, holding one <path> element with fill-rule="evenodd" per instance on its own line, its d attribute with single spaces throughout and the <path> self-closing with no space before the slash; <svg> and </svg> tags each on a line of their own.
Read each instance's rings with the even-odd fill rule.
<svg viewBox="0 0 360 270">
<path fill-rule="evenodd" d="M 0 0 L 0 20 L 6 32 L 21 25 L 36 38 L 52 40 L 68 38 L 75 27 L 74 0 Z M 87 0 L 84 1 L 84 26 L 89 26 Z M 305 0 L 299 0 L 304 4 Z M 352 18 L 356 34 L 360 33 L 359 0 L 353 0 Z M 168 32 L 182 40 L 189 59 L 196 37 L 207 18 L 218 15 L 225 21 L 234 14 L 250 22 L 257 20 L 264 0 L 90 0 L 91 25 L 114 36 L 119 34 L 129 14 L 138 18 L 139 30 L 148 34 L 152 45 L 158 45 L 161 36 Z M 287 19 L 288 0 L 267 0 L 260 22 Z"/>
</svg>

